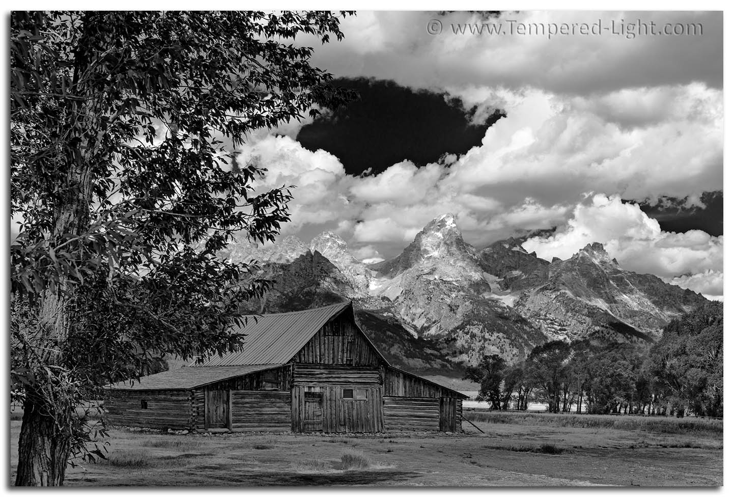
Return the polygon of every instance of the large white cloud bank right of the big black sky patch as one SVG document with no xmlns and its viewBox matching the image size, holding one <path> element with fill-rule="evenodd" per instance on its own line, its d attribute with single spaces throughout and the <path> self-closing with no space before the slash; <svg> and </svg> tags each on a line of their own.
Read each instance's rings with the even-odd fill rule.
<svg viewBox="0 0 734 497">
<path fill-rule="evenodd" d="M 674 109 L 663 109 L 667 99 Z M 634 101 L 648 101 L 635 112 Z M 623 102 L 629 101 L 629 104 Z M 545 206 L 581 192 L 631 200 L 686 197 L 723 185 L 723 93 L 701 84 L 599 98 L 504 92 L 507 117 L 451 165 L 447 183 Z"/>
</svg>

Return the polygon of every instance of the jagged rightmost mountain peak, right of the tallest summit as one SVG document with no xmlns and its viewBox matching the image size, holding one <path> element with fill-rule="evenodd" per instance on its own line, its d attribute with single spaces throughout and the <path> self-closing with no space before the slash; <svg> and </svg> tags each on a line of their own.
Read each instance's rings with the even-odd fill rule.
<svg viewBox="0 0 734 497">
<path fill-rule="evenodd" d="M 515 308 L 549 339 L 652 341 L 671 319 L 706 302 L 654 275 L 625 271 L 602 244 L 588 244 L 548 265 L 545 283 L 527 289 Z"/>
</svg>

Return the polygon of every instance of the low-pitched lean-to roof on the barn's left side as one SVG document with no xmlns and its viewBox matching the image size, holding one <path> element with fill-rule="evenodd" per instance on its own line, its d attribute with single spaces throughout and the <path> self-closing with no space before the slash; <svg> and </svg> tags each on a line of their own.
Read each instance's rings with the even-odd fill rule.
<svg viewBox="0 0 734 497">
<path fill-rule="evenodd" d="M 191 368 L 183 367 L 170 369 L 161 373 L 150 374 L 140 378 L 139 382 L 130 385 L 130 382 L 119 382 L 110 385 L 115 390 L 188 390 L 198 386 L 208 385 L 243 374 L 265 371 L 277 368 L 283 364 L 255 364 L 250 366 L 211 366 Z"/>
</svg>

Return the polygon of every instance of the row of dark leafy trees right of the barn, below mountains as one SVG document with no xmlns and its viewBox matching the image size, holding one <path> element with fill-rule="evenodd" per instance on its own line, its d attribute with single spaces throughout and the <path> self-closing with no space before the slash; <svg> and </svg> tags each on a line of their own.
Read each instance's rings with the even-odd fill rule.
<svg viewBox="0 0 734 497">
<path fill-rule="evenodd" d="M 723 305 L 710 302 L 670 322 L 653 345 L 549 341 L 513 364 L 484 356 L 465 379 L 497 410 L 527 410 L 531 399 L 551 413 L 722 417 L 723 332 Z"/>
</svg>

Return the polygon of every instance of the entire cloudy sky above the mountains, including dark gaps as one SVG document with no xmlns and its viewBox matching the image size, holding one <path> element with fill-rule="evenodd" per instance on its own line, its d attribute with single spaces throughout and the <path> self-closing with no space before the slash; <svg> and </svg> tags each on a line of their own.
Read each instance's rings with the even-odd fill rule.
<svg viewBox="0 0 734 497">
<path fill-rule="evenodd" d="M 483 22 L 506 34 L 454 33 Z M 600 31 L 548 35 L 562 23 Z M 601 242 L 625 269 L 722 298 L 721 12 L 360 11 L 341 29 L 298 42 L 361 100 L 238 150 L 268 169 L 259 188 L 297 186 L 283 236 L 334 231 L 376 261 L 451 212 L 478 249 L 524 236 L 551 260 Z"/>
</svg>

